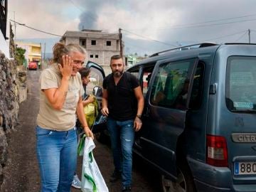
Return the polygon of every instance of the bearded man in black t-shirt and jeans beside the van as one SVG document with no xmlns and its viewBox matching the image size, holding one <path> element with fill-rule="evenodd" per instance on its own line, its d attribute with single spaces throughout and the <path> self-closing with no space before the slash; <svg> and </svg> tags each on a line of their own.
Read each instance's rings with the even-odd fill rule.
<svg viewBox="0 0 256 192">
<path fill-rule="evenodd" d="M 132 145 L 134 131 L 142 127 L 144 97 L 139 80 L 124 72 L 120 55 L 110 60 L 112 73 L 103 81 L 102 114 L 108 117 L 107 129 L 110 132 L 114 159 L 114 173 L 110 181 L 122 176 L 122 191 L 131 191 L 132 184 Z"/>
</svg>

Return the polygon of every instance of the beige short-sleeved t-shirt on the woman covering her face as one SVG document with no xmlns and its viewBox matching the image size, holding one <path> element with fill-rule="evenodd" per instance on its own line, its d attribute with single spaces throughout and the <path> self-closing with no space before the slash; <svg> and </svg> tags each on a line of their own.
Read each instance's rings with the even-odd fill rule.
<svg viewBox="0 0 256 192">
<path fill-rule="evenodd" d="M 75 110 L 78 99 L 84 94 L 80 73 L 71 76 L 68 81 L 68 92 L 61 110 L 55 110 L 42 90 L 60 87 L 62 75 L 58 65 L 53 64 L 43 70 L 39 79 L 40 85 L 40 109 L 37 124 L 44 129 L 67 131 L 75 127 Z"/>
</svg>

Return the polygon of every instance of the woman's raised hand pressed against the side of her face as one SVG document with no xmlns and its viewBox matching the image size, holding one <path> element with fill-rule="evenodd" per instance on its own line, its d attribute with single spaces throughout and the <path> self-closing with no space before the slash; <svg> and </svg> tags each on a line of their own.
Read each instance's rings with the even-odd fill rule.
<svg viewBox="0 0 256 192">
<path fill-rule="evenodd" d="M 63 78 L 69 80 L 73 71 L 73 61 L 70 58 L 70 55 L 62 56 L 63 65 L 58 64 L 60 68 L 60 73 L 63 75 Z"/>
</svg>

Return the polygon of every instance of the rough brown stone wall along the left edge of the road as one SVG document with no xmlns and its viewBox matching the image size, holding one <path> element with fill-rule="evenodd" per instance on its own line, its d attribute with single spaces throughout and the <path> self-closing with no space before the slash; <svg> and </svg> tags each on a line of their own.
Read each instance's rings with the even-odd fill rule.
<svg viewBox="0 0 256 192">
<path fill-rule="evenodd" d="M 3 168 L 7 161 L 6 134 L 18 121 L 18 80 L 16 63 L 0 51 L 0 186 L 4 181 Z"/>
</svg>

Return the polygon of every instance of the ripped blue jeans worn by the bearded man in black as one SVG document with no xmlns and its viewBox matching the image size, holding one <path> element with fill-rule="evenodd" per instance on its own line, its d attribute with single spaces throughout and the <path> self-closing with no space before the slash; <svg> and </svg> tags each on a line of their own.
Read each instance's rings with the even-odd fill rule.
<svg viewBox="0 0 256 192">
<path fill-rule="evenodd" d="M 122 171 L 122 185 L 132 183 L 132 145 L 134 143 L 134 120 L 119 122 L 108 118 L 115 171 Z"/>
</svg>

